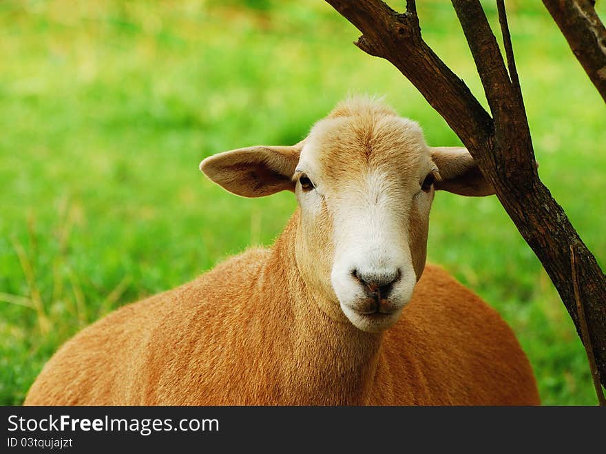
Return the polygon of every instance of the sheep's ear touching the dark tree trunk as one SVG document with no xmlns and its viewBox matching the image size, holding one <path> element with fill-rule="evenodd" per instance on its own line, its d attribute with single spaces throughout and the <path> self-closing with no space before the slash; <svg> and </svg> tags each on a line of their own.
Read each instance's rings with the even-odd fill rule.
<svg viewBox="0 0 606 454">
<path fill-rule="evenodd" d="M 494 188 L 463 147 L 432 147 L 432 161 L 438 167 L 435 188 L 462 196 L 490 196 Z"/>
</svg>

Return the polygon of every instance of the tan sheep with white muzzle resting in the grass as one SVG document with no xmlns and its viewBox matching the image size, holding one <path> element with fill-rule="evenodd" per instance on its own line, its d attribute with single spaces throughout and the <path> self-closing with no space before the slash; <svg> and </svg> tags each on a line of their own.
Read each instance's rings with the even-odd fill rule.
<svg viewBox="0 0 606 454">
<path fill-rule="evenodd" d="M 233 194 L 294 192 L 269 249 L 109 313 L 66 342 L 28 405 L 534 405 L 497 311 L 426 265 L 436 190 L 494 193 L 461 147 L 429 147 L 382 101 L 339 103 L 293 146 L 200 169 Z"/>
</svg>

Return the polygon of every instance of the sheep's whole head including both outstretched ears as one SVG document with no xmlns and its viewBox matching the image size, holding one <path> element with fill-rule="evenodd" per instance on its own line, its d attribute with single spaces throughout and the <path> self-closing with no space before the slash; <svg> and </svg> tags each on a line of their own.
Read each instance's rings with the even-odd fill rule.
<svg viewBox="0 0 606 454">
<path fill-rule="evenodd" d="M 353 99 L 292 147 L 249 147 L 200 164 L 248 197 L 295 192 L 300 273 L 331 317 L 363 331 L 392 326 L 425 267 L 436 189 L 492 194 L 466 149 L 428 147 L 414 121 Z"/>
</svg>

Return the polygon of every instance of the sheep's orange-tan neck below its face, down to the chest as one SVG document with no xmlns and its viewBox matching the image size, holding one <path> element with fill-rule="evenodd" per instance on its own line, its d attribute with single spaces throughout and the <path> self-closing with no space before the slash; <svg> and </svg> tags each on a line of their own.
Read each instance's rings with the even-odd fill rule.
<svg viewBox="0 0 606 454">
<path fill-rule="evenodd" d="M 284 307 L 288 315 L 282 319 L 289 324 L 289 342 L 281 346 L 285 359 L 281 400 L 293 404 L 372 402 L 377 367 L 384 367 L 383 335 L 365 333 L 318 309 L 315 298 L 321 297 L 305 285 L 296 266 L 296 223 L 295 214 L 273 248 L 271 267 L 277 283 L 289 293 L 281 302 L 289 306 Z"/>
</svg>

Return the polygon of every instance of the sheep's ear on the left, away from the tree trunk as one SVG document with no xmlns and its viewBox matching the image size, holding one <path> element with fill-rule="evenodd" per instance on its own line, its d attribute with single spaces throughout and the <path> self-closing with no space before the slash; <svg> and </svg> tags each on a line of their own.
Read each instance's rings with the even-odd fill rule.
<svg viewBox="0 0 606 454">
<path fill-rule="evenodd" d="M 247 147 L 206 158 L 200 170 L 229 192 L 261 197 L 295 190 L 293 174 L 302 143 L 292 147 Z"/>
</svg>

